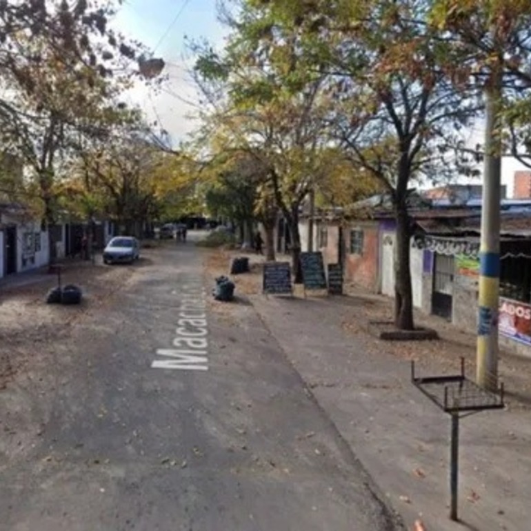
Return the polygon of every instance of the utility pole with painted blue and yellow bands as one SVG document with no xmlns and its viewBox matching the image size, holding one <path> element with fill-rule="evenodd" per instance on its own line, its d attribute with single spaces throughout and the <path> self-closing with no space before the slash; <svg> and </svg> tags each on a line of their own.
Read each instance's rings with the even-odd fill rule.
<svg viewBox="0 0 531 531">
<path fill-rule="evenodd" d="M 501 62 L 501 61 L 500 61 Z M 500 188 L 501 138 L 501 64 L 492 66 L 485 90 L 485 161 L 483 170 L 483 208 L 481 244 L 477 384 L 488 390 L 498 387 L 498 308 L 500 283 Z"/>
</svg>

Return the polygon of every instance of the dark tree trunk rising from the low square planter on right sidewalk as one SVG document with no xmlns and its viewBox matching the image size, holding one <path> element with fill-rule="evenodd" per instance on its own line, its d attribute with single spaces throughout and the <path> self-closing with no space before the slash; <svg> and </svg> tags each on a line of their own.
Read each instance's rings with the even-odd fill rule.
<svg viewBox="0 0 531 531">
<path fill-rule="evenodd" d="M 395 206 L 397 248 L 394 256 L 394 325 L 399 330 L 413 330 L 413 295 L 410 269 L 410 217 L 405 199 Z"/>
</svg>

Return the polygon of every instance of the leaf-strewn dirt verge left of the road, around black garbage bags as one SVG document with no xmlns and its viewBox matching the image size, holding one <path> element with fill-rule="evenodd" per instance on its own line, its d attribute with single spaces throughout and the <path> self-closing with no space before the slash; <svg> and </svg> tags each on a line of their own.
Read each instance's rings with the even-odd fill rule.
<svg viewBox="0 0 531 531">
<path fill-rule="evenodd" d="M 48 419 L 59 388 L 71 377 L 75 325 L 105 311 L 114 294 L 133 281 L 131 266 L 68 263 L 61 283 L 83 290 L 80 305 L 46 304 L 55 274 L 29 274 L 0 285 L 0 469 L 32 448 Z"/>
</svg>

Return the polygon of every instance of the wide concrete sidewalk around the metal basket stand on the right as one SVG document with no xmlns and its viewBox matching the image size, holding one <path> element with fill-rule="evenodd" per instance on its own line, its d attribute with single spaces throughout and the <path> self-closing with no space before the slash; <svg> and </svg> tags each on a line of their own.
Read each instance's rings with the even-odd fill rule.
<svg viewBox="0 0 531 531">
<path fill-rule="evenodd" d="M 367 301 L 250 300 L 408 529 L 418 519 L 427 531 L 531 529 L 529 404 L 508 399 L 505 410 L 461 421 L 461 522 L 454 523 L 448 518 L 450 416 L 412 385 L 410 362 L 392 354 L 390 343 L 345 330 L 353 308 L 364 312 Z M 425 375 L 459 372 L 459 359 L 443 363 L 426 355 L 417 365 Z M 505 385 L 510 390 L 510 381 Z"/>
</svg>

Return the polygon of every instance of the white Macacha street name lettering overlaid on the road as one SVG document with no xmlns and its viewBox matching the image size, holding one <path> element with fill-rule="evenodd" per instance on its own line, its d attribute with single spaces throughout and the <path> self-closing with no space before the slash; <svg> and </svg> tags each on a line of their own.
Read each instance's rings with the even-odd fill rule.
<svg viewBox="0 0 531 531">
<path fill-rule="evenodd" d="M 181 290 L 181 303 L 172 348 L 159 348 L 154 369 L 208 370 L 206 292 L 201 282 L 189 281 Z"/>
</svg>

